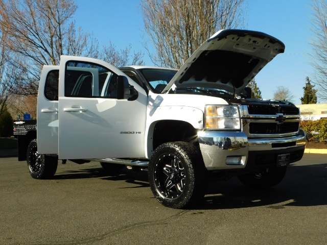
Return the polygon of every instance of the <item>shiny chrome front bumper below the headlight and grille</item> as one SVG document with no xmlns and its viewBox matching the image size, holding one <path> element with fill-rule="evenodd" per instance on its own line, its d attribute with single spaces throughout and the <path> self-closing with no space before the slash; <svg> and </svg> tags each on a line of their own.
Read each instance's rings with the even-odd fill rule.
<svg viewBox="0 0 327 245">
<path fill-rule="evenodd" d="M 249 152 L 279 151 L 303 148 L 306 135 L 300 130 L 296 136 L 285 138 L 248 139 L 244 132 L 198 132 L 200 150 L 208 170 L 245 168 Z"/>
</svg>

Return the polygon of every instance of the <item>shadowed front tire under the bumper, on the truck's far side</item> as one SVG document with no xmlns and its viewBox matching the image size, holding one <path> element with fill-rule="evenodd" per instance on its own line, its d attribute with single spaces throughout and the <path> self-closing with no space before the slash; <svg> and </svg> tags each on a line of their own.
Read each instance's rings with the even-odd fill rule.
<svg viewBox="0 0 327 245">
<path fill-rule="evenodd" d="M 268 189 L 281 182 L 286 174 L 286 167 L 265 168 L 258 173 L 239 176 L 239 180 L 252 189 Z"/>
</svg>

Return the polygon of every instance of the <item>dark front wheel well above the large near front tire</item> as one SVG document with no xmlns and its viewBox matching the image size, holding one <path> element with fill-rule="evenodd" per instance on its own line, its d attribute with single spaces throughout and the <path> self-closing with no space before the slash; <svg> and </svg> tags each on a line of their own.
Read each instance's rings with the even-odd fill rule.
<svg viewBox="0 0 327 245">
<path fill-rule="evenodd" d="M 158 121 L 153 131 L 153 149 L 156 149 L 160 144 L 175 141 L 196 144 L 198 142 L 197 130 L 186 121 Z"/>
</svg>

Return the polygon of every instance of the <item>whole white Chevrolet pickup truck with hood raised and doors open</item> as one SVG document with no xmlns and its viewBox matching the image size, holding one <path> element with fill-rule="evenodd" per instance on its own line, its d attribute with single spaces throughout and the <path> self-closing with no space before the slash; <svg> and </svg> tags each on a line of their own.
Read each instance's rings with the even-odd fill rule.
<svg viewBox="0 0 327 245">
<path fill-rule="evenodd" d="M 251 99 L 246 85 L 284 49 L 261 32 L 222 30 L 179 70 L 61 56 L 43 67 L 37 127 L 14 121 L 18 160 L 36 179 L 51 178 L 58 159 L 148 170 L 154 196 L 172 208 L 199 202 L 211 177 L 272 187 L 305 150 L 300 112 Z"/>
</svg>

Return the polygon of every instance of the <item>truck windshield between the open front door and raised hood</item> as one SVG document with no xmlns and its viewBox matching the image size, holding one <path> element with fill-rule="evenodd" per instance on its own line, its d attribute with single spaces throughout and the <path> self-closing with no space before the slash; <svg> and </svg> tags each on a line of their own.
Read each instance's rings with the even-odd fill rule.
<svg viewBox="0 0 327 245">
<path fill-rule="evenodd" d="M 161 93 L 177 72 L 177 70 L 156 68 L 144 68 L 140 71 L 155 93 Z"/>
</svg>

